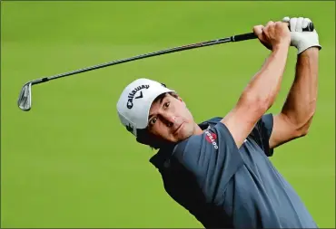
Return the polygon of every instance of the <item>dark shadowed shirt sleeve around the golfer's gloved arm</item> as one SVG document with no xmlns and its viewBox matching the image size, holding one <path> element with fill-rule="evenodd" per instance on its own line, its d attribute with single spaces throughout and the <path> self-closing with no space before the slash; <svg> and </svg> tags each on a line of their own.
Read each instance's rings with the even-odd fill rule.
<svg viewBox="0 0 336 229">
<path fill-rule="evenodd" d="M 265 114 L 262 119 L 256 123 L 252 129 L 251 137 L 257 142 L 260 148 L 264 151 L 267 157 L 272 157 L 273 149 L 270 148 L 270 138 L 273 129 L 273 115 Z"/>
</svg>

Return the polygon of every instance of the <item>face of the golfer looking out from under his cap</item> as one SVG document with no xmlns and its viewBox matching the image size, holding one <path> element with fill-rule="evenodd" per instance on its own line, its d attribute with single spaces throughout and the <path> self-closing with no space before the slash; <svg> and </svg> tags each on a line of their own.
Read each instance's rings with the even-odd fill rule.
<svg viewBox="0 0 336 229">
<path fill-rule="evenodd" d="M 181 98 L 166 93 L 153 101 L 149 111 L 148 130 L 169 142 L 189 138 L 195 131 L 193 115 Z"/>
</svg>

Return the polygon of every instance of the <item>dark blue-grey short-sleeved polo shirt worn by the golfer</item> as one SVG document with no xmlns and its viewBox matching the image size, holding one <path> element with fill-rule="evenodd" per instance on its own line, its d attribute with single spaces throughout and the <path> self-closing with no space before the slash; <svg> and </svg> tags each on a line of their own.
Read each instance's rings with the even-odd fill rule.
<svg viewBox="0 0 336 229">
<path fill-rule="evenodd" d="M 204 121 L 202 135 L 151 158 L 166 192 L 206 228 L 316 228 L 268 158 L 272 114 L 262 116 L 241 148 L 221 119 Z"/>
</svg>

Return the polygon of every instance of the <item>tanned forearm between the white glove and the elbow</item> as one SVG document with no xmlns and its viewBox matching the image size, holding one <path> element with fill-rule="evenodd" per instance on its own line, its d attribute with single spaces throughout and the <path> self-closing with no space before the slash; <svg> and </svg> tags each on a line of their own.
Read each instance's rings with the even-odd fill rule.
<svg viewBox="0 0 336 229">
<path fill-rule="evenodd" d="M 318 48 L 310 48 L 298 56 L 295 80 L 282 108 L 282 114 L 303 133 L 308 131 L 316 108 L 318 58 Z"/>
</svg>

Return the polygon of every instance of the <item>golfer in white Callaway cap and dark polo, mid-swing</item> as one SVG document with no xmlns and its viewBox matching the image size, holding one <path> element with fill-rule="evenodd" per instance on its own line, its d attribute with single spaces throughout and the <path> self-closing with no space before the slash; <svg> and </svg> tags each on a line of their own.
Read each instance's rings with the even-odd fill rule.
<svg viewBox="0 0 336 229">
<path fill-rule="evenodd" d="M 302 32 L 310 22 L 285 17 L 253 27 L 270 54 L 222 118 L 197 124 L 177 92 L 157 81 L 138 79 L 124 88 L 117 102 L 121 122 L 138 142 L 159 149 L 150 161 L 164 189 L 204 227 L 317 227 L 268 158 L 311 125 L 321 45 L 315 30 Z M 280 90 L 290 46 L 298 54 L 295 80 L 282 110 L 266 113 Z"/>
</svg>

